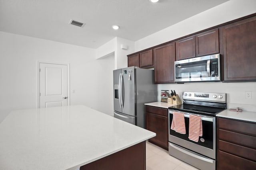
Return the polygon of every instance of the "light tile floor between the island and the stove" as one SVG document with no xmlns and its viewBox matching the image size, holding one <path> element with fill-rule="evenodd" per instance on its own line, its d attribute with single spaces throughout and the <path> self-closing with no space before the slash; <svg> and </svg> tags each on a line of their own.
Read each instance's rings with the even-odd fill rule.
<svg viewBox="0 0 256 170">
<path fill-rule="evenodd" d="M 164 150 L 146 141 L 146 170 L 198 170 L 169 155 Z"/>
</svg>

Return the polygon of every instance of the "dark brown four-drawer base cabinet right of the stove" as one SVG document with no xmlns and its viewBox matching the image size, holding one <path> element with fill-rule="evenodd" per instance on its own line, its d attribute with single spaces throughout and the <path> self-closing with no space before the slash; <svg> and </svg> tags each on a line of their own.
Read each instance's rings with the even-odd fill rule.
<svg viewBox="0 0 256 170">
<path fill-rule="evenodd" d="M 217 170 L 256 170 L 256 123 L 217 118 Z"/>
</svg>

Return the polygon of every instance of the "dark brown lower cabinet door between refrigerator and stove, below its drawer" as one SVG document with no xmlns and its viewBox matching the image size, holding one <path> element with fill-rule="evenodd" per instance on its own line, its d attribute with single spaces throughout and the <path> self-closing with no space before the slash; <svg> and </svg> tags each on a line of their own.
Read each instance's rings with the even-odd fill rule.
<svg viewBox="0 0 256 170">
<path fill-rule="evenodd" d="M 148 141 L 168 150 L 168 118 L 147 112 L 146 128 L 156 133 L 156 136 Z"/>
</svg>

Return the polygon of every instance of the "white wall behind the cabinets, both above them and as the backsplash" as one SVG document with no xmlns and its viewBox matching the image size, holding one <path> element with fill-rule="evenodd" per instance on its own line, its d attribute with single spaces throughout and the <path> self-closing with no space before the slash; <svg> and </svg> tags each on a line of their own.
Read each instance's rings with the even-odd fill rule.
<svg viewBox="0 0 256 170">
<path fill-rule="evenodd" d="M 253 14 L 256 12 L 255 7 L 256 0 L 230 0 L 136 41 L 135 51 L 140 51 L 227 21 Z M 227 93 L 228 108 L 241 107 L 247 111 L 256 111 L 256 82 L 159 84 L 158 101 L 160 101 L 160 90 L 176 90 L 180 95 L 183 91 L 223 92 Z M 252 92 L 252 99 L 245 98 L 245 92 L 247 91 Z"/>
</svg>

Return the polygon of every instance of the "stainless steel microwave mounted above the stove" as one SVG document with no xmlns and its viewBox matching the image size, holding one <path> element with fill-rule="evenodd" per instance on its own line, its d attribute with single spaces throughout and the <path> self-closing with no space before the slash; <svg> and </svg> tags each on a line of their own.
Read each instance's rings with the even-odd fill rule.
<svg viewBox="0 0 256 170">
<path fill-rule="evenodd" d="M 175 82 L 220 81 L 220 54 L 174 62 Z"/>
</svg>

